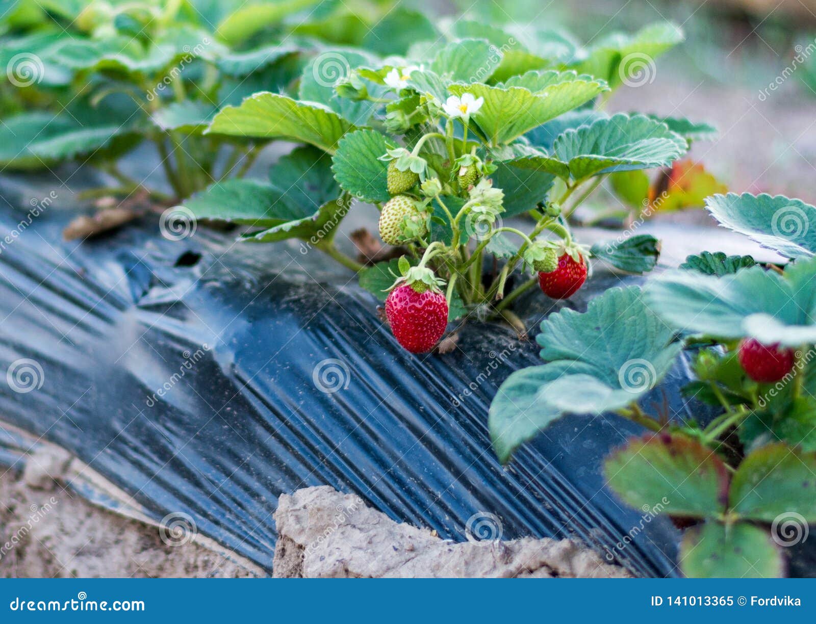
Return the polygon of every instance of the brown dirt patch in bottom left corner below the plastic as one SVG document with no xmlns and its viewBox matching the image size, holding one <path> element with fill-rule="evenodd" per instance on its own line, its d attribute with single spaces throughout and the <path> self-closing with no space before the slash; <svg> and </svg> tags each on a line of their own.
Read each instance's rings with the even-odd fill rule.
<svg viewBox="0 0 816 624">
<path fill-rule="evenodd" d="M 43 461 L 24 474 L 0 471 L 0 578 L 255 576 L 195 542 L 168 546 L 157 527 L 91 505 L 46 475 L 69 458 Z"/>
</svg>

